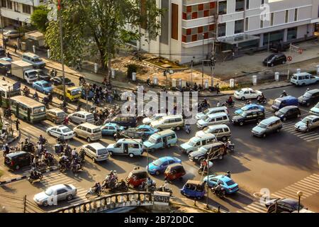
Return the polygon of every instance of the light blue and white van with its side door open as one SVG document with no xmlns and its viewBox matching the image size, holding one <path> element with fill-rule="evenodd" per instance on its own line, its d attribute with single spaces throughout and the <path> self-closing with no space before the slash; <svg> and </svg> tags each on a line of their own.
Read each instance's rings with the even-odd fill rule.
<svg viewBox="0 0 319 227">
<path fill-rule="evenodd" d="M 142 140 L 120 139 L 116 143 L 107 146 L 109 155 L 128 155 L 134 157 L 142 155 L 144 152 L 142 148 Z"/>
</svg>

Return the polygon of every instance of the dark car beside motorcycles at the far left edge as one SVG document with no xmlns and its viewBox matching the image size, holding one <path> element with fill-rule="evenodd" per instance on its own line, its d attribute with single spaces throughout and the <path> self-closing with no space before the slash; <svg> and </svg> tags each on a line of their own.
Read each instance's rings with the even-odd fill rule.
<svg viewBox="0 0 319 227">
<path fill-rule="evenodd" d="M 20 170 L 21 167 L 30 166 L 33 155 L 25 151 L 9 153 L 4 157 L 4 165 L 11 170 Z"/>
</svg>

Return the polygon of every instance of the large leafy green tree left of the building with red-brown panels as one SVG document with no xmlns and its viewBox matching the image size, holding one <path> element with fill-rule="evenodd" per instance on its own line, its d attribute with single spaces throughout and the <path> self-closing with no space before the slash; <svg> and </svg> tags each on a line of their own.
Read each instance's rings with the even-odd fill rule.
<svg viewBox="0 0 319 227">
<path fill-rule="evenodd" d="M 157 36 L 160 28 L 157 18 L 161 15 L 162 10 L 157 9 L 155 0 L 64 0 L 64 55 L 72 62 L 71 58 L 81 58 L 84 46 L 94 43 L 101 57 L 101 67 L 108 69 L 109 77 L 111 59 L 116 50 L 128 41 L 140 38 L 143 34 L 138 28 L 145 22 L 148 40 Z M 76 23 L 72 23 L 74 20 Z M 52 55 L 58 57 L 60 45 L 57 42 L 59 29 L 56 21 L 49 23 L 47 33 L 47 44 Z"/>
</svg>

